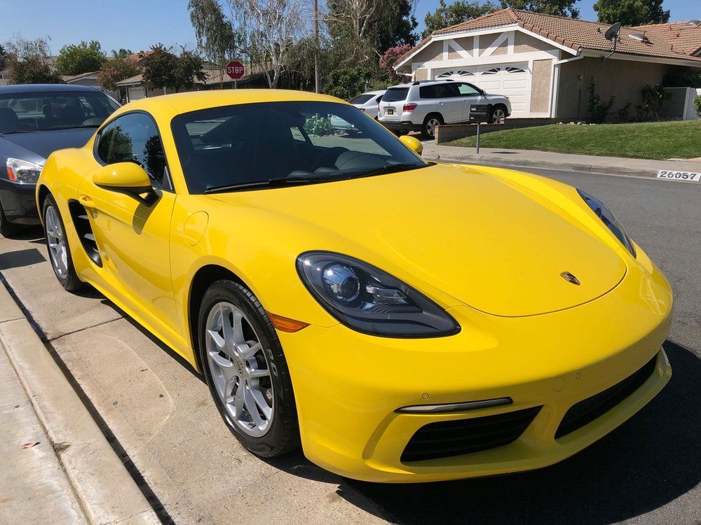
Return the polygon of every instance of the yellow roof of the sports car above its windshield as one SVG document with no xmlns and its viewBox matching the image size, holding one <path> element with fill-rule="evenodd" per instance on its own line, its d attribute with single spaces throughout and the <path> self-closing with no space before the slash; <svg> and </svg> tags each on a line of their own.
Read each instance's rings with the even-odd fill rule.
<svg viewBox="0 0 701 525">
<path fill-rule="evenodd" d="M 256 104 L 260 102 L 348 102 L 327 94 L 294 90 L 206 90 L 185 93 L 173 93 L 139 99 L 125 104 L 118 110 L 125 111 L 165 111 L 170 113 L 189 113 L 199 109 L 210 109 L 233 104 Z M 116 116 L 117 113 L 115 113 Z"/>
</svg>

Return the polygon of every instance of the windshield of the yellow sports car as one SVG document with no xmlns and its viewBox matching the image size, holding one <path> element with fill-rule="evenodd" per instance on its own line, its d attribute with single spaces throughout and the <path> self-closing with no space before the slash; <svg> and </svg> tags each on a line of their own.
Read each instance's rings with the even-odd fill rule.
<svg viewBox="0 0 701 525">
<path fill-rule="evenodd" d="M 266 102 L 184 113 L 172 120 L 189 192 L 322 182 L 428 164 L 348 104 Z M 273 187 L 272 185 L 270 187 Z"/>
</svg>

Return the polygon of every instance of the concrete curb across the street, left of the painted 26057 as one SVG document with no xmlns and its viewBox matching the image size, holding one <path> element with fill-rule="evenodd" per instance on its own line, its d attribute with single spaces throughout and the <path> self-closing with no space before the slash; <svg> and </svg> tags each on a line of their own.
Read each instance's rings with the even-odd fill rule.
<svg viewBox="0 0 701 525">
<path fill-rule="evenodd" d="M 605 166 L 594 164 L 580 164 L 576 162 L 548 162 L 544 160 L 529 160 L 529 159 L 513 159 L 508 157 L 496 157 L 490 155 L 484 157 L 482 155 L 437 155 L 433 151 L 424 153 L 423 158 L 426 160 L 436 160 L 440 162 L 459 162 L 462 164 L 489 165 L 489 166 L 510 166 L 515 168 L 540 168 L 540 169 L 558 169 L 567 172 L 583 172 L 601 175 L 625 175 L 639 176 L 649 179 L 656 179 L 658 170 L 656 169 L 637 169 L 622 166 Z"/>
</svg>

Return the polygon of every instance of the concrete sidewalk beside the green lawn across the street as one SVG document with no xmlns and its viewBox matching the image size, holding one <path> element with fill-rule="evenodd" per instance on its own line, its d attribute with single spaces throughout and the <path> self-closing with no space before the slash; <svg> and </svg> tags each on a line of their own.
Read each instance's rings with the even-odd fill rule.
<svg viewBox="0 0 701 525">
<path fill-rule="evenodd" d="M 660 169 L 679 172 L 701 172 L 701 162 L 688 160 L 627 159 L 500 148 L 479 148 L 479 154 L 477 154 L 475 148 L 438 146 L 433 144 L 433 141 L 423 142 L 423 158 L 440 160 L 442 162 L 562 169 L 572 172 L 637 175 L 652 178 L 657 176 Z"/>
</svg>

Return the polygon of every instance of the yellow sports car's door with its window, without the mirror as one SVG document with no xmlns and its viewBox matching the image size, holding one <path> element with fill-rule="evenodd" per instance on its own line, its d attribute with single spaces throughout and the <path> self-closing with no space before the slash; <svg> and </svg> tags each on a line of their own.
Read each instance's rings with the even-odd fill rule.
<svg viewBox="0 0 701 525">
<path fill-rule="evenodd" d="M 83 179 L 79 202 L 90 210 L 103 275 L 109 286 L 139 303 L 180 332 L 170 274 L 170 218 L 176 195 L 158 127 L 144 112 L 125 113 L 95 139 L 100 167 Z M 136 162 L 151 179 L 153 199 L 97 186 L 93 174 Z"/>
</svg>

